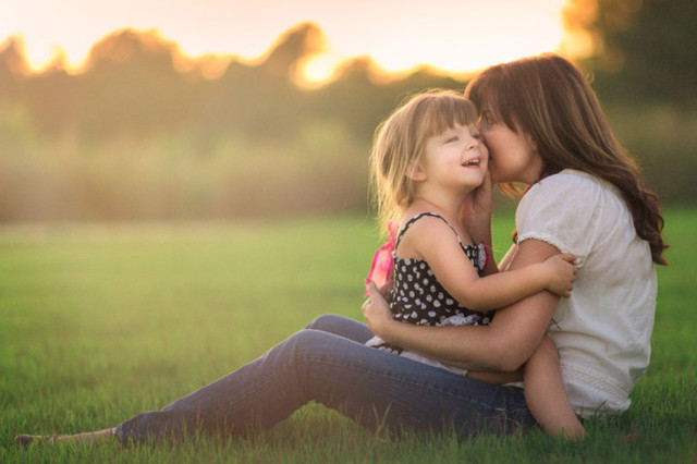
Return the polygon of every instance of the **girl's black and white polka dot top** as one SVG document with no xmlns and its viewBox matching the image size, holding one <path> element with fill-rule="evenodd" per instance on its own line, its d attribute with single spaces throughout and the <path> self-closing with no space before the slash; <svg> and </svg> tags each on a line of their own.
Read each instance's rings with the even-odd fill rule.
<svg viewBox="0 0 697 464">
<path fill-rule="evenodd" d="M 424 259 L 401 259 L 396 257 L 396 249 L 406 231 L 420 218 L 430 216 L 445 222 L 457 236 L 460 247 L 472 261 L 478 273 L 486 266 L 486 249 L 484 245 L 463 245 L 460 235 L 453 227 L 435 212 L 423 212 L 409 219 L 400 231 L 392 257 L 394 259 L 393 286 L 390 291 L 390 310 L 394 319 L 417 326 L 437 326 L 447 318 L 461 315 L 469 319 L 466 325 L 488 323 L 493 312 L 476 313 L 467 309 L 453 298 L 433 276 L 428 262 Z M 461 323 L 464 325 L 464 323 Z"/>
</svg>

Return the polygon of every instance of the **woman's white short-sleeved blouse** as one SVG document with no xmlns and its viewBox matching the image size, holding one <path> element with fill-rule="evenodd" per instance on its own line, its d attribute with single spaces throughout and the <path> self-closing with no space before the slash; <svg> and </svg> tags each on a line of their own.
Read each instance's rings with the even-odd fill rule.
<svg viewBox="0 0 697 464">
<path fill-rule="evenodd" d="M 515 222 L 518 243 L 540 240 L 579 257 L 572 296 L 560 300 L 547 330 L 576 414 L 625 411 L 649 363 L 657 281 L 619 191 L 565 170 L 528 190 Z"/>
</svg>

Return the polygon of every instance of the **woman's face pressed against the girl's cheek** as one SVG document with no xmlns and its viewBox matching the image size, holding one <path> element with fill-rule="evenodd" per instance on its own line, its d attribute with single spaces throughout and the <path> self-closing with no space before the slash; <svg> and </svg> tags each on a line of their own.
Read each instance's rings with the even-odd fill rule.
<svg viewBox="0 0 697 464">
<path fill-rule="evenodd" d="M 512 131 L 490 111 L 482 111 L 479 129 L 489 148 L 492 182 L 524 182 L 531 185 L 539 180 L 542 158 L 527 134 Z"/>
</svg>

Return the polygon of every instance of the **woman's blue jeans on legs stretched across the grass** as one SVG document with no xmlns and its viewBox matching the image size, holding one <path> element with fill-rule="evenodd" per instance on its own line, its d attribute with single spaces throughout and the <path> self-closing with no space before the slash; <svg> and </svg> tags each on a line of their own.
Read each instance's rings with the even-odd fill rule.
<svg viewBox="0 0 697 464">
<path fill-rule="evenodd" d="M 243 435 L 316 401 L 375 430 L 511 434 L 534 427 L 523 390 L 491 386 L 363 345 L 372 333 L 320 316 L 264 356 L 161 411 L 119 425 L 117 438 L 176 438 L 196 430 Z"/>
</svg>

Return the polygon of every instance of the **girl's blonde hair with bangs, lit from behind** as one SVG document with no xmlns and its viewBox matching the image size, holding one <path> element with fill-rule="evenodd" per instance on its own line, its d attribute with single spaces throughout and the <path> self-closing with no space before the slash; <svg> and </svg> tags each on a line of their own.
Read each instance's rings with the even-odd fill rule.
<svg viewBox="0 0 697 464">
<path fill-rule="evenodd" d="M 416 182 L 408 171 L 417 166 L 428 138 L 455 123 L 477 123 L 475 106 L 454 90 L 431 89 L 406 99 L 375 132 L 370 152 L 371 193 L 382 225 L 398 219 L 414 202 Z"/>
</svg>

